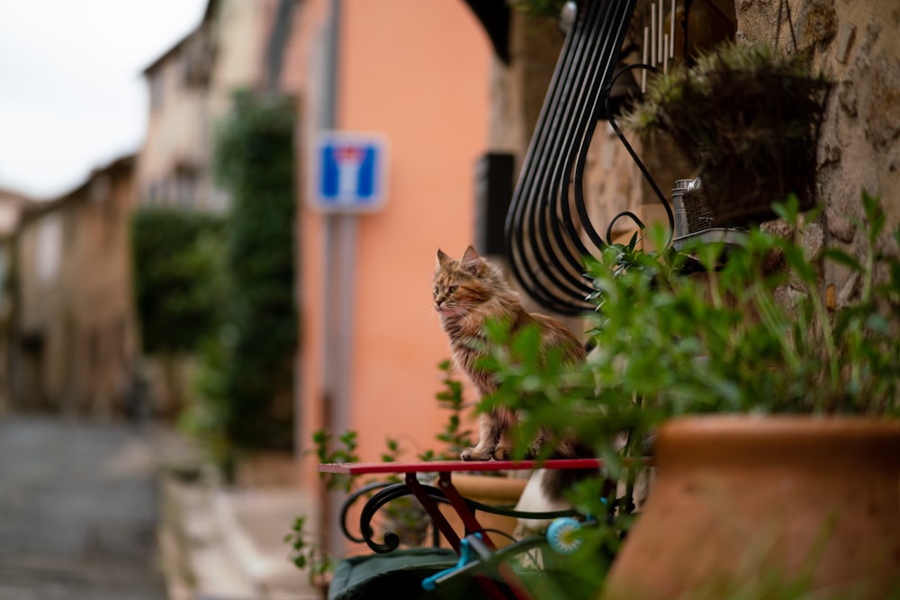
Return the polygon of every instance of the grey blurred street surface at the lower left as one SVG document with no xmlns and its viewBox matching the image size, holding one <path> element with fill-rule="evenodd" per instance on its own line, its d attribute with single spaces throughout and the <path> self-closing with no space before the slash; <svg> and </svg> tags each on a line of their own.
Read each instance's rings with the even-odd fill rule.
<svg viewBox="0 0 900 600">
<path fill-rule="evenodd" d="M 156 428 L 0 417 L 0 598 L 164 600 Z"/>
</svg>

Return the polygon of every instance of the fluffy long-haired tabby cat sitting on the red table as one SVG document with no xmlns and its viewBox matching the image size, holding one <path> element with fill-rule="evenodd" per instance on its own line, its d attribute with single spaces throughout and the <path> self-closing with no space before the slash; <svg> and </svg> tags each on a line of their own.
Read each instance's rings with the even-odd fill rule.
<svg viewBox="0 0 900 600">
<path fill-rule="evenodd" d="M 475 252 L 466 248 L 463 258 L 454 260 L 437 251 L 437 271 L 434 280 L 435 309 L 441 318 L 441 327 L 450 339 L 450 348 L 459 369 L 472 381 L 482 398 L 497 390 L 491 372 L 478 368 L 485 352 L 484 326 L 490 320 L 509 323 L 510 332 L 536 324 L 541 333 L 541 355 L 549 348 L 560 348 L 563 360 L 578 363 L 584 360 L 584 348 L 572 332 L 558 320 L 523 308 L 518 293 L 513 291 L 500 269 Z M 488 461 L 509 458 L 509 432 L 517 423 L 513 410 L 497 407 L 479 417 L 479 442 L 467 448 L 460 458 L 464 461 Z M 530 448 L 529 455 L 536 455 L 546 443 L 554 444 L 554 458 L 590 456 L 590 451 L 567 436 L 543 431 Z M 559 497 L 566 487 L 565 474 L 545 479 L 545 491 Z"/>
</svg>

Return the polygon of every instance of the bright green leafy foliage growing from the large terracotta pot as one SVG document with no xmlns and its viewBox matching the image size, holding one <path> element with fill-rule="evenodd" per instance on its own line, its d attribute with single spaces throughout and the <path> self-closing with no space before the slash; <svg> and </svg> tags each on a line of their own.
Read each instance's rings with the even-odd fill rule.
<svg viewBox="0 0 900 600">
<path fill-rule="evenodd" d="M 877 198 L 863 193 L 862 207 L 861 259 L 838 247 L 807 255 L 798 240 L 815 215 L 801 218 L 796 199 L 775 208 L 793 238 L 757 228 L 736 246 L 608 246 L 587 266 L 597 306 L 588 317 L 587 361 L 569 370 L 548 360 L 539 368 L 535 333 L 510 336 L 495 324 L 482 366 L 500 386 L 480 408 L 517 407 L 522 439 L 549 426 L 592 442 L 608 474 L 629 487 L 635 468 L 627 460 L 642 455 L 653 429 L 673 416 L 900 416 L 900 228 L 885 235 Z M 662 231 L 647 235 L 664 239 Z M 858 276 L 859 296 L 826 301 L 826 266 Z M 597 560 L 600 548 L 615 554 L 632 519 L 622 510 L 628 496 L 616 511 L 625 518 L 599 519 L 586 533 L 585 560 Z M 597 481 L 576 487 L 572 499 L 589 515 L 608 515 L 616 500 Z"/>
</svg>

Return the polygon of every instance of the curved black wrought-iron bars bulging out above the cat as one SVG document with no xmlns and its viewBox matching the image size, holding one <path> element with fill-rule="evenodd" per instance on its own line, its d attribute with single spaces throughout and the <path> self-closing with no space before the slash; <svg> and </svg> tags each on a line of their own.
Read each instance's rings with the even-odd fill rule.
<svg viewBox="0 0 900 600">
<path fill-rule="evenodd" d="M 575 3 L 569 10 L 575 9 Z M 575 14 L 556 64 L 544 106 L 531 139 L 506 223 L 507 255 L 512 273 L 534 300 L 554 312 L 579 315 L 593 309 L 586 300 L 590 281 L 584 257 L 597 255 L 611 243 L 617 219 L 606 239 L 591 223 L 582 180 L 597 121 L 610 123 L 665 207 L 670 231 L 674 218 L 662 191 L 653 182 L 608 110 L 609 92 L 617 76 L 620 49 L 635 11 L 635 0 L 584 0 Z M 577 9 L 575 9 L 577 10 Z"/>
</svg>

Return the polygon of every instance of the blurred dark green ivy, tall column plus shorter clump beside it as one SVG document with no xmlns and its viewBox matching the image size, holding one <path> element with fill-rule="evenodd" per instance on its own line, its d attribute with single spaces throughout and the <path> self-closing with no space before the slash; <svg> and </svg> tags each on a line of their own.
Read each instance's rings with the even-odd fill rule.
<svg viewBox="0 0 900 600">
<path fill-rule="evenodd" d="M 238 94 L 217 132 L 224 217 L 146 207 L 131 220 L 144 354 L 199 356 L 183 415 L 227 466 L 238 448 L 293 445 L 293 103 Z"/>
</svg>

